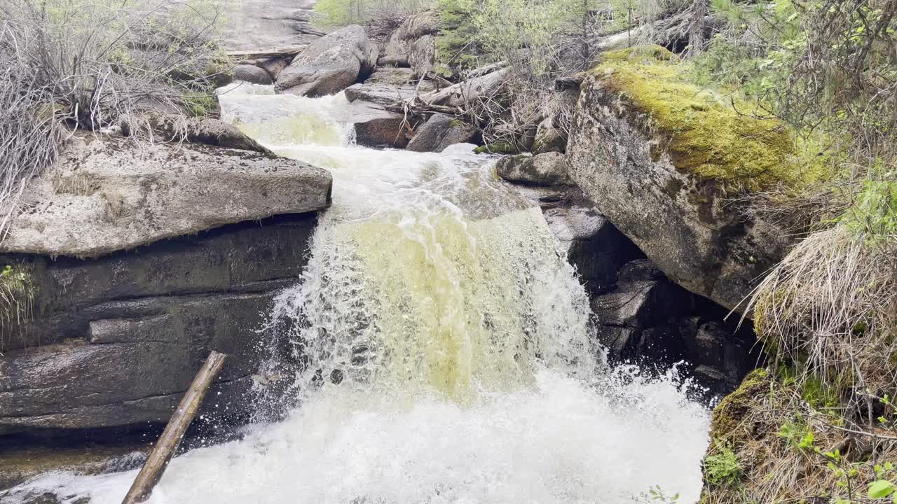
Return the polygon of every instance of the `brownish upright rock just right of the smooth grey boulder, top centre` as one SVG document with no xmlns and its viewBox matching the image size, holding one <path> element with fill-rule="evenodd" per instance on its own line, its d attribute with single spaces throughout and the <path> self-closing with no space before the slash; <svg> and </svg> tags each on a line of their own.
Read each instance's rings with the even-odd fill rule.
<svg viewBox="0 0 897 504">
<path fill-rule="evenodd" d="M 440 13 L 437 11 L 408 16 L 389 34 L 378 65 L 410 66 L 414 74 L 426 74 L 436 60 L 436 35 L 439 30 Z"/>
</svg>

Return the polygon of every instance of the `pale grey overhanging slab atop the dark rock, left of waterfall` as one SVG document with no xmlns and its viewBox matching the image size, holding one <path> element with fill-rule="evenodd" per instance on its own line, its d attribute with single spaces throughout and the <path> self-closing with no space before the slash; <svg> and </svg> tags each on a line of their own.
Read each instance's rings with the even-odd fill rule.
<svg viewBox="0 0 897 504">
<path fill-rule="evenodd" d="M 100 256 L 329 203 L 327 171 L 270 154 L 77 135 L 22 195 L 0 253 Z"/>
</svg>

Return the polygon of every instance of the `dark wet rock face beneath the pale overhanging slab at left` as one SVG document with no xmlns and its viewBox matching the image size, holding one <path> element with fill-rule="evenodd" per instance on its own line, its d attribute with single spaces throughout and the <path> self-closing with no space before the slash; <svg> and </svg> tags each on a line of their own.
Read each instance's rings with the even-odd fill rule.
<svg viewBox="0 0 897 504">
<path fill-rule="evenodd" d="M 315 218 L 287 215 L 80 260 L 0 256 L 31 272 L 35 316 L 0 343 L 0 438 L 168 421 L 212 350 L 229 354 L 205 401 L 239 422 L 270 355 L 257 330 L 298 281 Z"/>
</svg>

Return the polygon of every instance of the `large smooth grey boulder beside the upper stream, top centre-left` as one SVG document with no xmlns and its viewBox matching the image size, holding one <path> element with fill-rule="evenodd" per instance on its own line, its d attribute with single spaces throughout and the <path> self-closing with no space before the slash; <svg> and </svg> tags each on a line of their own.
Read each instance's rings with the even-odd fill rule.
<svg viewBox="0 0 897 504">
<path fill-rule="evenodd" d="M 310 97 L 335 94 L 367 77 L 376 63 L 377 46 L 353 24 L 309 44 L 283 69 L 274 89 Z"/>
</svg>

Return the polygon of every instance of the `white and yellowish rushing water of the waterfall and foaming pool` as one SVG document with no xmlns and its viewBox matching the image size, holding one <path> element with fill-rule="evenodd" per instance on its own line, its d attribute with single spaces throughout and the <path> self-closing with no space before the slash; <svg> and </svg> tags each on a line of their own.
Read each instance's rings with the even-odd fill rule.
<svg viewBox="0 0 897 504">
<path fill-rule="evenodd" d="M 174 459 L 150 502 L 615 503 L 654 485 L 697 500 L 706 412 L 673 378 L 608 369 L 575 272 L 488 158 L 353 146 L 342 95 L 226 91 L 225 118 L 334 176 L 266 329 L 300 357 L 279 377 L 297 405 Z M 134 476 L 27 486 L 118 503 Z"/>
</svg>

